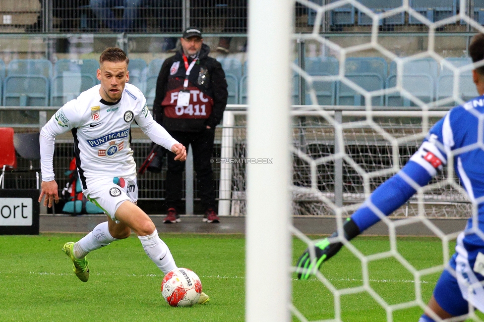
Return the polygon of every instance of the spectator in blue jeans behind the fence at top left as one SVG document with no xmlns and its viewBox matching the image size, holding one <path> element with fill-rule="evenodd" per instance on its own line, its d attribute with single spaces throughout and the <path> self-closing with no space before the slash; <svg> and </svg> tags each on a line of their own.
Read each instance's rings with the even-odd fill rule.
<svg viewBox="0 0 484 322">
<path fill-rule="evenodd" d="M 115 32 L 132 31 L 142 0 L 91 0 L 90 6 L 97 19 Z M 122 9 L 122 18 L 115 15 L 113 9 Z"/>
</svg>

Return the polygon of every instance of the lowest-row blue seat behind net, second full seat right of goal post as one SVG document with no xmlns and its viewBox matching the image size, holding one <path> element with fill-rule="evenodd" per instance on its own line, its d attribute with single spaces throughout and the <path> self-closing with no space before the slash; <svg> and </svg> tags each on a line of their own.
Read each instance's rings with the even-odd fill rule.
<svg viewBox="0 0 484 322">
<path fill-rule="evenodd" d="M 382 90 L 384 87 L 383 78 L 378 74 L 346 74 L 345 77 L 368 92 Z M 365 105 L 365 100 L 361 93 L 346 84 L 338 82 L 336 87 L 336 105 L 360 106 Z M 372 97 L 371 105 L 382 106 L 383 96 Z"/>
</svg>

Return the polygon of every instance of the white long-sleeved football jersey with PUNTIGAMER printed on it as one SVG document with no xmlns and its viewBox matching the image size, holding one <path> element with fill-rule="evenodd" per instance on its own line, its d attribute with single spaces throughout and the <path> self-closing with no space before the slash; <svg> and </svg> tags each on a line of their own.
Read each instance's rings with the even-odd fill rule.
<svg viewBox="0 0 484 322">
<path fill-rule="evenodd" d="M 43 181 L 54 180 L 54 138 L 68 130 L 74 136 L 76 165 L 83 188 L 86 179 L 136 177 L 136 163 L 130 148 L 133 121 L 150 139 L 171 150 L 178 143 L 151 116 L 146 99 L 134 85 L 126 83 L 116 103 L 101 98 L 96 85 L 67 102 L 41 130 L 41 164 Z"/>
</svg>

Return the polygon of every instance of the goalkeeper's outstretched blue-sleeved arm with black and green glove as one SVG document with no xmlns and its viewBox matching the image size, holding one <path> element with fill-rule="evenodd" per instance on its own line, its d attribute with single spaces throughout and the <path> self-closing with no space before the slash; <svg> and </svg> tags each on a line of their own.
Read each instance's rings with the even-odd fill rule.
<svg viewBox="0 0 484 322">
<path fill-rule="evenodd" d="M 343 240 L 351 240 L 372 226 L 384 216 L 390 215 L 404 205 L 417 189 L 425 186 L 442 170 L 447 163 L 444 151 L 453 145 L 450 128 L 450 112 L 437 122 L 427 138 L 410 161 L 394 176 L 382 183 L 373 191 L 363 205 L 348 218 L 343 225 L 344 237 L 334 232 L 308 247 L 300 256 L 296 266 L 299 279 L 307 279 L 314 274 L 320 265 L 329 260 L 343 247 Z M 442 143 L 443 142 L 443 143 Z"/>
</svg>

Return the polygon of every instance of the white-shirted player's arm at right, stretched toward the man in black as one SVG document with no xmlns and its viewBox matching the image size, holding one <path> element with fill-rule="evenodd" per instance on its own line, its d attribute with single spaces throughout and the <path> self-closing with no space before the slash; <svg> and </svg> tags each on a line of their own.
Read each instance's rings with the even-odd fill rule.
<svg viewBox="0 0 484 322">
<path fill-rule="evenodd" d="M 148 110 L 148 106 L 146 105 L 146 100 L 144 100 L 144 98 L 143 108 L 141 108 L 139 113 L 135 114 L 134 120 L 144 134 L 151 139 L 151 141 L 173 152 L 176 155 L 175 160 L 186 160 L 185 147 L 180 142 L 175 140 L 163 126 L 155 122 L 150 111 Z"/>
</svg>

